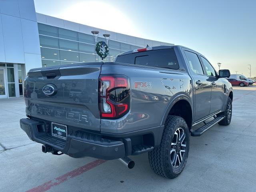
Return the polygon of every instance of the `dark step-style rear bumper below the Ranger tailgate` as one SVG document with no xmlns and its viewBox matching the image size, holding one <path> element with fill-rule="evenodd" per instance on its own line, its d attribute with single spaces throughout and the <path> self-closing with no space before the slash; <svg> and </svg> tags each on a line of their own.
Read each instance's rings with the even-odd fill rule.
<svg viewBox="0 0 256 192">
<path fill-rule="evenodd" d="M 35 142 L 51 146 L 74 158 L 90 156 L 104 160 L 118 159 L 126 156 L 122 140 L 102 138 L 97 134 L 82 131 L 68 134 L 67 140 L 51 136 L 49 127 L 43 121 L 20 119 L 20 127 Z"/>
</svg>

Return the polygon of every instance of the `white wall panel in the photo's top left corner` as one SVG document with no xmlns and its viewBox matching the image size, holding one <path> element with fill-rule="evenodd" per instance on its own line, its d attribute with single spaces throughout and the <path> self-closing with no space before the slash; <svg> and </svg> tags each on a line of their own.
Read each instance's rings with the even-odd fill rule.
<svg viewBox="0 0 256 192">
<path fill-rule="evenodd" d="M 20 17 L 18 0 L 0 0 L 1 13 Z"/>
</svg>

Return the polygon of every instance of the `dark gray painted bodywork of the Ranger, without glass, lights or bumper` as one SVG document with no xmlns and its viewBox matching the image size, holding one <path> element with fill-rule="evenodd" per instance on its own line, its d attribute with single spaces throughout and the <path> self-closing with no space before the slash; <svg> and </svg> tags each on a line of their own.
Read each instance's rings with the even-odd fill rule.
<svg viewBox="0 0 256 192">
<path fill-rule="evenodd" d="M 183 52 L 183 49 L 188 48 L 158 46 L 153 50 L 161 48 L 174 48 L 180 65 L 179 70 L 115 62 L 31 70 L 24 82 L 27 114 L 68 126 L 118 134 L 163 125 L 172 104 L 181 99 L 188 100 L 192 107 L 192 123 L 215 111 L 224 110 L 228 94 L 232 91 L 232 86 L 226 79 L 192 75 Z M 122 54 L 129 53 L 131 52 Z M 56 76 L 56 79 L 45 80 L 42 77 L 44 70 L 48 73 L 57 70 L 60 76 Z M 120 119 L 100 120 L 98 110 L 98 77 L 100 74 L 124 74 L 130 78 L 130 111 Z M 195 83 L 197 80 L 201 80 L 203 84 L 198 86 Z M 216 85 L 213 86 L 212 81 L 215 81 Z M 34 82 L 36 82 L 36 93 L 31 94 L 34 91 Z M 135 82 L 149 82 L 152 88 L 136 89 Z M 58 93 L 55 96 L 48 97 L 42 93 L 42 87 L 48 83 L 57 86 Z M 74 95 L 79 99 L 76 100 Z M 45 108 L 46 112 L 42 112 L 42 108 Z M 56 111 L 58 115 L 61 114 L 60 117 L 56 117 Z M 68 114 L 70 118 L 67 118 L 65 114 Z M 86 119 L 80 120 L 81 116 Z"/>
</svg>

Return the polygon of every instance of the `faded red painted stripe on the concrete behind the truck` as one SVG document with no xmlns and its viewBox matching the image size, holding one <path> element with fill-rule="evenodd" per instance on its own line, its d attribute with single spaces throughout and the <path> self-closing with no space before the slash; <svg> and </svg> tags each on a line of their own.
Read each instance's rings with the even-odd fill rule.
<svg viewBox="0 0 256 192">
<path fill-rule="evenodd" d="M 57 177 L 53 180 L 50 180 L 50 181 L 48 181 L 48 182 L 46 182 L 46 183 L 44 183 L 40 186 L 32 188 L 32 189 L 30 189 L 26 192 L 44 192 L 44 191 L 47 191 L 50 188 L 52 188 L 53 186 L 57 186 L 57 185 L 65 182 L 65 181 L 67 181 L 71 178 L 74 178 L 74 177 L 76 177 L 76 176 L 78 176 L 78 175 L 80 175 L 80 174 L 82 174 L 82 173 L 84 173 L 84 172 L 86 172 L 86 171 L 104 163 L 104 162 L 106 162 L 106 160 L 97 159 L 97 160 L 95 160 L 93 162 L 90 162 L 90 163 L 88 163 L 88 164 L 86 164 L 82 167 L 79 167 L 79 168 L 77 168 L 73 171 L 70 171 L 70 172 L 68 172 L 68 173 L 66 173 L 62 176 L 59 176 L 59 177 Z"/>
</svg>

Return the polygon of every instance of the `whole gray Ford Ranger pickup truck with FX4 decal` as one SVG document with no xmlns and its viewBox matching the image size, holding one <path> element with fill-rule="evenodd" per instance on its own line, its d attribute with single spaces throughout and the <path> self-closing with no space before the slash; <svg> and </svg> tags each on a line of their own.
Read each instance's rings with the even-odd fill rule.
<svg viewBox="0 0 256 192">
<path fill-rule="evenodd" d="M 228 125 L 233 90 L 200 53 L 156 46 L 119 54 L 114 62 L 36 68 L 24 81 L 20 127 L 43 152 L 119 159 L 148 152 L 165 178 L 186 164 L 190 136 Z"/>
</svg>

